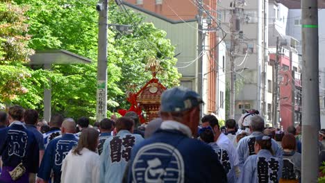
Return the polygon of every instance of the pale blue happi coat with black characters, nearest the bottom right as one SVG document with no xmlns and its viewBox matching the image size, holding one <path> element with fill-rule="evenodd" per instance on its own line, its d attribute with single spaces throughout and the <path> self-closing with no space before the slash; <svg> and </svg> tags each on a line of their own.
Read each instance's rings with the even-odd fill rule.
<svg viewBox="0 0 325 183">
<path fill-rule="evenodd" d="M 269 150 L 260 150 L 257 155 L 251 155 L 247 158 L 238 182 L 278 182 L 281 177 L 282 166 L 282 160 L 274 157 Z"/>
</svg>

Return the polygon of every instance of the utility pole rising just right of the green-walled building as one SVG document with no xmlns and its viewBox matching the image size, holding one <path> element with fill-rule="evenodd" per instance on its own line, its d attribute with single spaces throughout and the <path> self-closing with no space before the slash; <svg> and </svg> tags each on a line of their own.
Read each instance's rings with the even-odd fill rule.
<svg viewBox="0 0 325 183">
<path fill-rule="evenodd" d="M 199 6 L 197 6 L 197 92 L 203 98 L 203 42 L 204 42 L 204 35 L 203 35 L 203 0 L 197 0 Z M 200 6 L 201 5 L 201 6 Z M 203 107 L 201 110 L 201 116 L 203 116 Z"/>
</svg>

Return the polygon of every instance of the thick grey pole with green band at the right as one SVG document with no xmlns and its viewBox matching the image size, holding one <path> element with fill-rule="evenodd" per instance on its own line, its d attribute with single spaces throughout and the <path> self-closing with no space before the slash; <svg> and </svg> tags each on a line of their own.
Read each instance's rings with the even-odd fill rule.
<svg viewBox="0 0 325 183">
<path fill-rule="evenodd" d="M 317 0 L 301 0 L 302 33 L 302 177 L 317 182 L 319 173 L 319 47 Z"/>
</svg>

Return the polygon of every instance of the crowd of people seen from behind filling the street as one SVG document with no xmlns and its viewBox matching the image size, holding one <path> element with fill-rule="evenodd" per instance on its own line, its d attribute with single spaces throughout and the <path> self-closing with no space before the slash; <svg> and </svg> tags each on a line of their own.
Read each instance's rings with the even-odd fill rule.
<svg viewBox="0 0 325 183">
<path fill-rule="evenodd" d="M 161 96 L 160 118 L 139 116 L 90 125 L 13 105 L 0 112 L 0 182 L 299 182 L 301 126 L 265 128 L 258 111 L 220 126 L 200 119 L 200 96 L 174 87 Z M 201 123 L 200 123 L 201 122 Z M 325 130 L 319 155 L 325 160 Z"/>
</svg>

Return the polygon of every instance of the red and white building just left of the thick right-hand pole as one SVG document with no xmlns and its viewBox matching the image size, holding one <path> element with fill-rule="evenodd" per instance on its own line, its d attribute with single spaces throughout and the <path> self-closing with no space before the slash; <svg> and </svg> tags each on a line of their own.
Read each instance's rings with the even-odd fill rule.
<svg viewBox="0 0 325 183">
<path fill-rule="evenodd" d="M 269 47 L 270 63 L 276 62 L 276 48 Z M 278 53 L 278 127 L 287 130 L 301 123 L 301 70 L 295 49 Z"/>
</svg>

